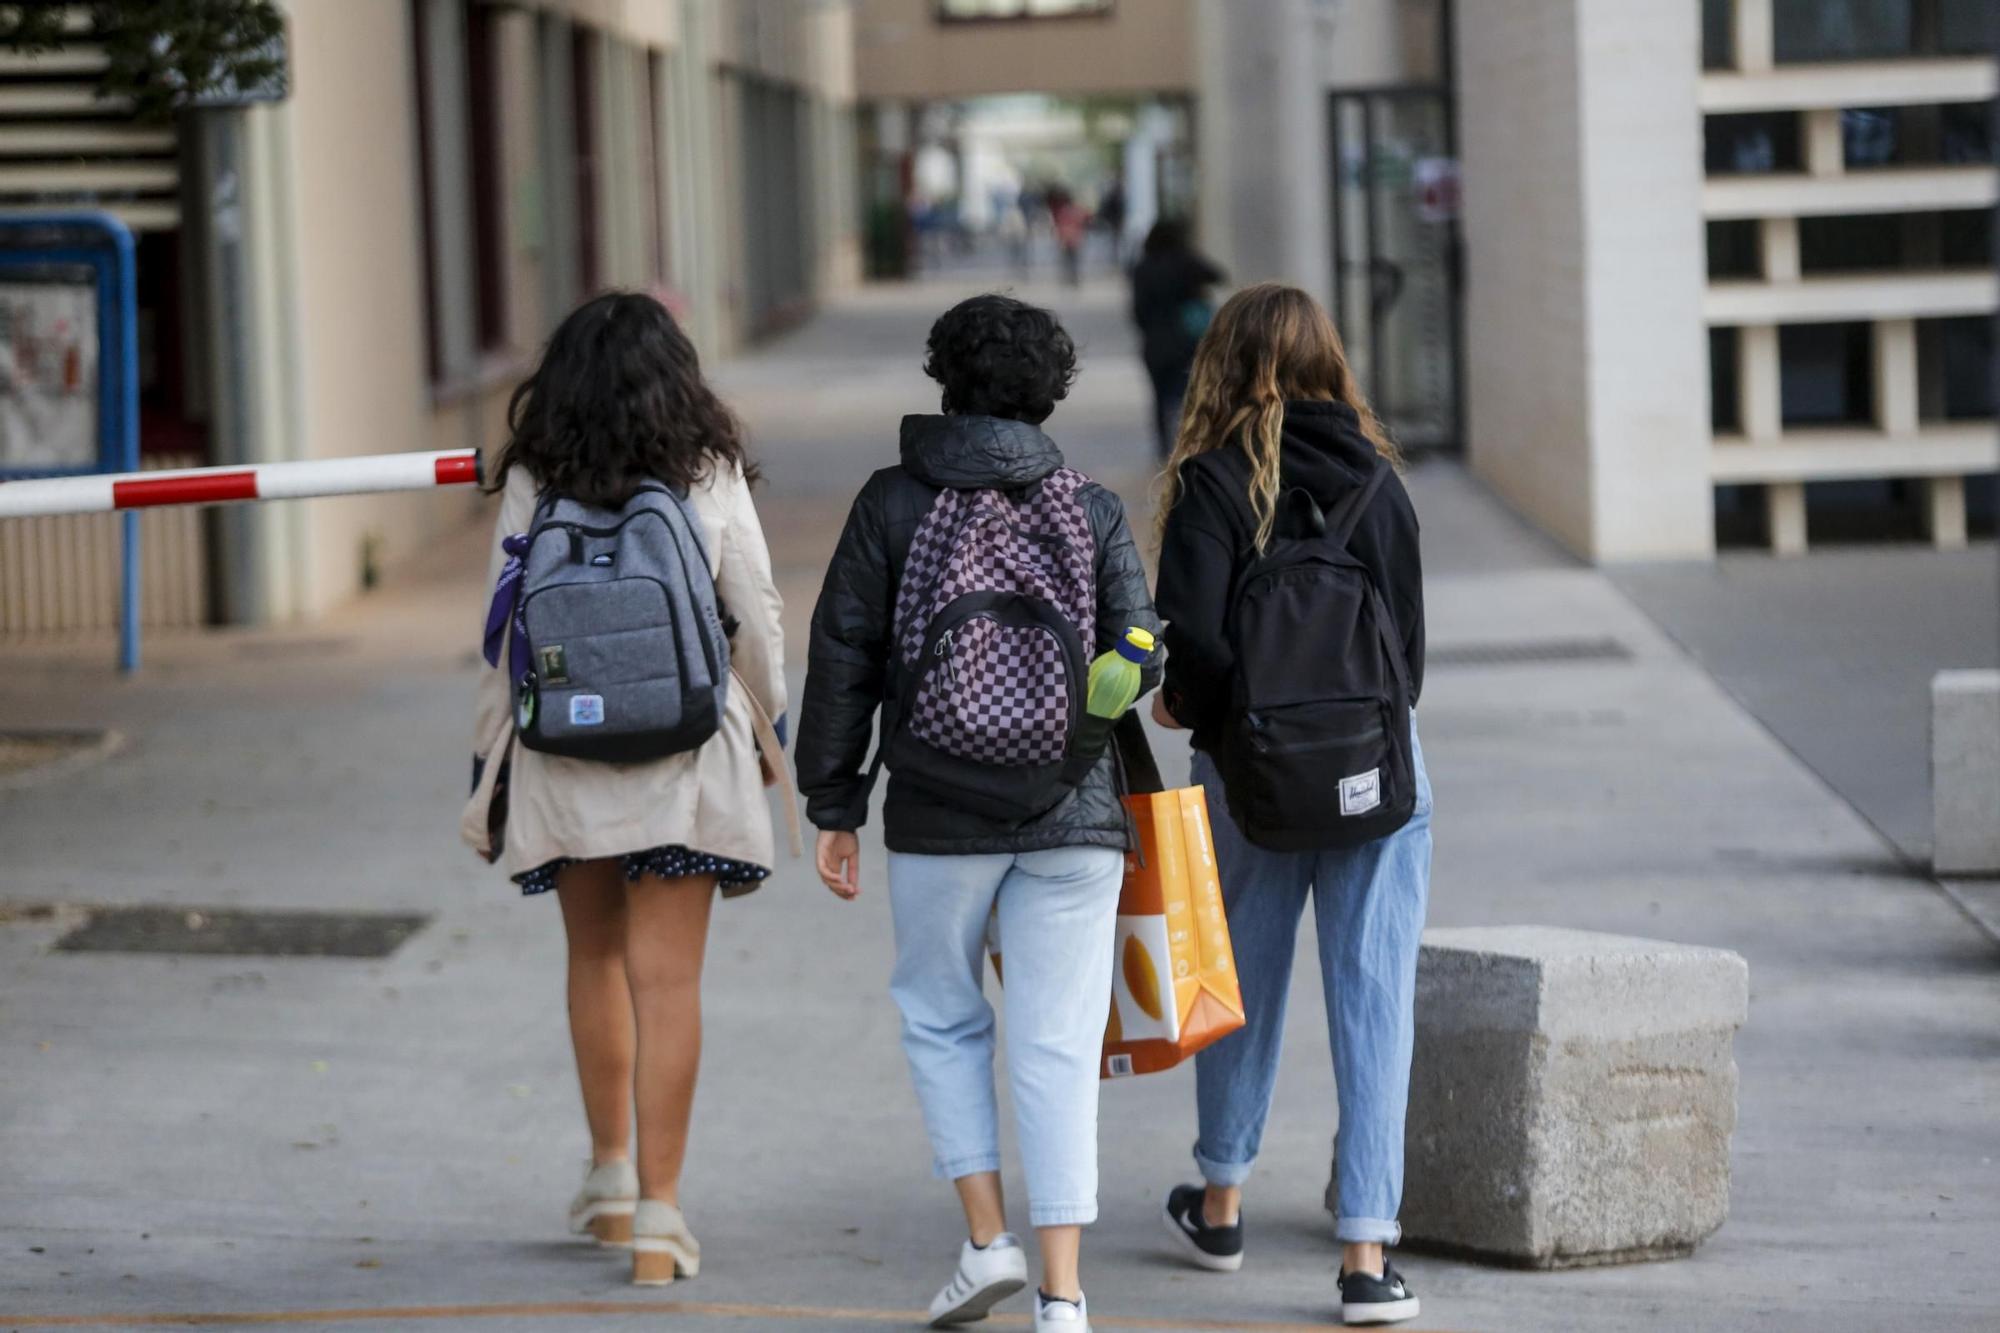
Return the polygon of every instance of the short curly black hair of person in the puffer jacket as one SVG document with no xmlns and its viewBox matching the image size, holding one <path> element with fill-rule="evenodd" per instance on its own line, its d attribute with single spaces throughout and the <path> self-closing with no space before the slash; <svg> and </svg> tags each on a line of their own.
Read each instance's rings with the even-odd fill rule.
<svg viewBox="0 0 2000 1333">
<path fill-rule="evenodd" d="M 944 410 L 1040 424 L 1076 382 L 1076 344 L 1056 316 L 1012 296 L 974 296 L 938 316 L 924 374 Z"/>
</svg>

